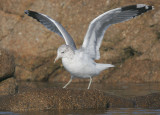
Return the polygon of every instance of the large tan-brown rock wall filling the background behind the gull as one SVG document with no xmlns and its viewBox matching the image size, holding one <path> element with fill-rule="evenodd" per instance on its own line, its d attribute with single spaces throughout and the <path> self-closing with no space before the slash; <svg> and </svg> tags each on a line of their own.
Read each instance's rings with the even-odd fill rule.
<svg viewBox="0 0 160 115">
<path fill-rule="evenodd" d="M 96 16 L 113 8 L 137 3 L 154 5 L 155 10 L 123 24 L 113 25 L 107 30 L 100 49 L 101 60 L 98 62 L 113 63 L 116 68 L 104 71 L 93 82 L 160 81 L 157 77 L 159 69 L 156 69 L 159 68 L 160 61 L 158 50 L 160 48 L 160 1 L 158 0 L 102 0 L 101 3 L 99 0 L 1 1 L 0 46 L 14 52 L 17 65 L 15 76 L 18 80 L 67 82 L 70 76 L 64 71 L 61 62 L 53 64 L 56 50 L 64 44 L 64 40 L 36 20 L 24 15 L 24 10 L 41 12 L 60 22 L 79 47 L 89 23 Z M 20 7 L 15 9 L 17 6 Z M 141 64 L 138 64 L 139 62 Z M 147 64 L 147 68 L 143 62 Z M 154 69 L 149 68 L 150 66 Z M 141 73 L 143 67 L 146 69 Z M 130 74 L 127 75 L 128 71 Z M 111 76 L 114 76 L 114 80 Z M 79 81 L 81 80 L 75 82 Z"/>
</svg>

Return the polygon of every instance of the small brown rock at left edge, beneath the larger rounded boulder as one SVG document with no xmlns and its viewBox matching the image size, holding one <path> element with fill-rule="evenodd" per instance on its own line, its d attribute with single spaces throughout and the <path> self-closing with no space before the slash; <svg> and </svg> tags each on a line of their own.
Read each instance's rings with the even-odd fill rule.
<svg viewBox="0 0 160 115">
<path fill-rule="evenodd" d="M 0 82 L 0 96 L 13 95 L 17 93 L 18 85 L 15 78 L 8 78 Z"/>
</svg>

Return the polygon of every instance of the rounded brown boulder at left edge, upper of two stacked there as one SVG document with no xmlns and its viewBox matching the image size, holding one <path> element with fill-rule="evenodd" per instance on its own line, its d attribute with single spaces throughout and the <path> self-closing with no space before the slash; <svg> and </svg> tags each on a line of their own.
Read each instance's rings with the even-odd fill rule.
<svg viewBox="0 0 160 115">
<path fill-rule="evenodd" d="M 12 77 L 14 72 L 15 62 L 13 55 L 0 48 L 0 81 Z"/>
</svg>

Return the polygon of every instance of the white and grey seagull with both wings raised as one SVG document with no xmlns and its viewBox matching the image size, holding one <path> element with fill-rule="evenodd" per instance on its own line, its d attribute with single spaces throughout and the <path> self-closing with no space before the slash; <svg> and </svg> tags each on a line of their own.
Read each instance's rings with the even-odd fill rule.
<svg viewBox="0 0 160 115">
<path fill-rule="evenodd" d="M 112 24 L 130 20 L 153 9 L 154 7 L 150 5 L 136 4 L 115 8 L 99 15 L 91 21 L 83 44 L 79 49 L 76 48 L 70 34 L 57 21 L 45 14 L 31 10 L 25 10 L 25 14 L 36 19 L 47 29 L 64 39 L 65 44 L 58 48 L 57 57 L 55 58 L 55 62 L 61 58 L 64 68 L 71 74 L 69 82 L 63 88 L 66 88 L 73 78 L 89 78 L 87 88 L 89 89 L 92 77 L 99 75 L 103 70 L 114 67 L 112 64 L 95 62 L 95 60 L 100 59 L 99 48 L 107 28 Z"/>
</svg>

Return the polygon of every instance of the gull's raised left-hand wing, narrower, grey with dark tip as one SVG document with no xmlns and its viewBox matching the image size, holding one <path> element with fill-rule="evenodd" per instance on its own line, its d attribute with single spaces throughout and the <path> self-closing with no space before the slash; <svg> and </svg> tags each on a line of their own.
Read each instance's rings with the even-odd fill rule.
<svg viewBox="0 0 160 115">
<path fill-rule="evenodd" d="M 76 50 L 76 45 L 72 39 L 72 37 L 69 35 L 69 33 L 63 28 L 61 24 L 56 22 L 55 20 L 51 19 L 47 15 L 26 10 L 25 13 L 28 16 L 31 16 L 32 18 L 39 21 L 41 24 L 43 24 L 47 29 L 57 33 L 59 36 L 64 38 L 67 45 L 71 46 L 74 50 Z"/>
</svg>

